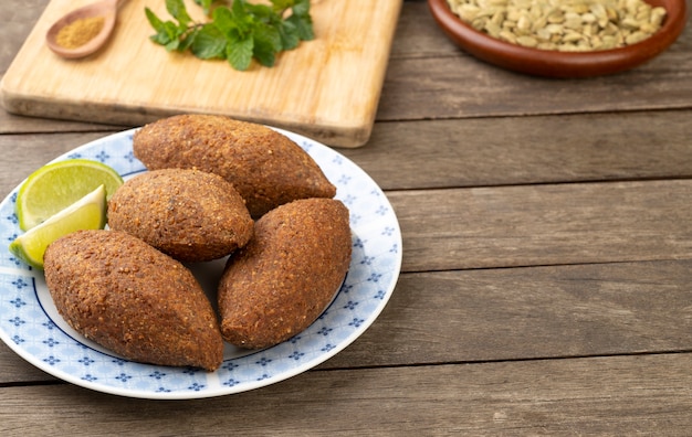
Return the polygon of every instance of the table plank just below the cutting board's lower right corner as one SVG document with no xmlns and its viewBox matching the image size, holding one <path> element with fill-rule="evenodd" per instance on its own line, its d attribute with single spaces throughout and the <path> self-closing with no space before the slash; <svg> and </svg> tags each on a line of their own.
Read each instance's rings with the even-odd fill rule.
<svg viewBox="0 0 692 437">
<path fill-rule="evenodd" d="M 339 151 L 386 190 L 689 178 L 690 119 L 667 110 L 377 122 L 367 147 Z"/>
</svg>

